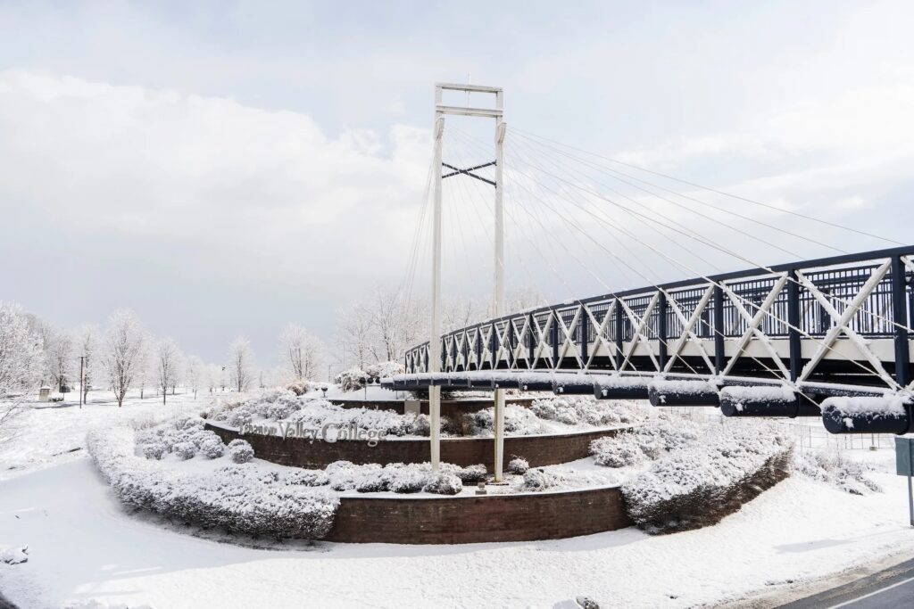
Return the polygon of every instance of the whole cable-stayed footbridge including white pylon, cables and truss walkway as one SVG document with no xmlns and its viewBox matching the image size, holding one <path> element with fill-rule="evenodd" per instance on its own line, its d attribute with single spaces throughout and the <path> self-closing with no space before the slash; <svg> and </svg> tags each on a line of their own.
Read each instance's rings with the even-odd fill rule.
<svg viewBox="0 0 914 609">
<path fill-rule="evenodd" d="M 442 102 L 454 93 L 457 99 L 465 94 L 467 105 Z M 471 96 L 491 98 L 494 107 L 471 105 Z M 527 131 L 508 131 L 503 100 L 504 91 L 494 87 L 435 88 L 427 190 L 433 201 L 430 341 L 406 352 L 405 374 L 383 382 L 396 389 L 432 388 L 433 462 L 438 388 L 444 386 L 495 390 L 496 445 L 504 424 L 501 390 L 511 387 L 649 399 L 655 405 L 714 405 L 729 416 L 821 415 L 834 433 L 914 432 L 914 246 L 842 226 L 831 209 L 804 214 L 791 205 L 766 204 Z M 458 127 L 446 130 L 445 118 L 453 116 L 494 119 L 494 151 L 491 142 Z M 513 205 L 505 205 L 505 196 Z M 467 229 L 485 226 L 479 209 L 487 209 L 492 198 L 494 236 L 486 237 L 494 246 L 495 317 L 441 332 L 442 228 L 463 240 L 452 247 L 455 266 L 470 266 L 463 259 L 469 239 L 460 214 L 477 215 Z M 407 300 L 423 249 L 425 209 L 404 281 Z M 447 225 L 441 220 L 445 210 L 452 210 Z M 536 281 L 551 271 L 550 283 L 565 283 L 574 294 L 556 268 L 564 261 L 607 290 L 620 280 L 615 271 L 648 285 L 508 313 L 508 224 L 516 248 L 530 244 L 526 256 L 515 257 L 524 268 L 510 267 L 517 276 L 523 270 Z M 861 237 L 893 247 L 858 254 L 843 249 L 848 238 Z M 551 248 L 554 243 L 558 247 Z M 759 244 L 786 259 L 808 257 L 797 252 L 813 247 L 839 255 L 766 267 L 749 257 Z M 645 263 L 638 252 L 654 261 Z M 541 261 L 526 268 L 537 256 Z M 708 275 L 694 270 L 717 269 L 728 257 L 755 268 Z M 697 265 L 690 266 L 692 258 Z M 650 285 L 658 265 L 698 276 Z M 613 272 L 609 283 L 603 281 L 607 271 Z M 501 460 L 496 447 L 496 462 Z"/>
</svg>

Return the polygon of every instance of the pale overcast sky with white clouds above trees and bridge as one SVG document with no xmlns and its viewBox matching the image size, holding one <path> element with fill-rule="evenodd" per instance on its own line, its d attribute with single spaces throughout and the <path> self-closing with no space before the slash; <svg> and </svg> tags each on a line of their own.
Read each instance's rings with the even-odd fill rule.
<svg viewBox="0 0 914 609">
<path fill-rule="evenodd" d="M 911 23 L 908 1 L 0 2 L 0 299 L 65 326 L 131 307 L 213 361 L 238 334 L 270 361 L 287 321 L 330 339 L 403 278 L 432 83 L 467 78 L 511 126 L 911 243 Z M 446 290 L 487 289 L 468 267 Z"/>
</svg>

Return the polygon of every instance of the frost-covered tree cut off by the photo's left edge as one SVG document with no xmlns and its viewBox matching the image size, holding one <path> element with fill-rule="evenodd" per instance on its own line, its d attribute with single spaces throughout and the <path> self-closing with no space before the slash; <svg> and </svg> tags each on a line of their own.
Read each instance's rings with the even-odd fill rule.
<svg viewBox="0 0 914 609">
<path fill-rule="evenodd" d="M 0 395 L 36 388 L 44 371 L 40 331 L 17 305 L 0 303 Z"/>
</svg>

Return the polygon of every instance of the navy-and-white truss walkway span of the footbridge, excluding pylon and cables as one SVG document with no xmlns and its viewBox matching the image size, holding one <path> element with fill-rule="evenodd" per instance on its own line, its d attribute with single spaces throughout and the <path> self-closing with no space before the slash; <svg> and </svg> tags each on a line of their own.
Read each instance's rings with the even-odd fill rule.
<svg viewBox="0 0 914 609">
<path fill-rule="evenodd" d="M 521 388 L 909 431 L 914 246 L 692 278 L 519 311 L 406 354 L 396 389 Z M 829 400 L 829 398 L 832 398 Z M 827 402 L 826 402 L 827 400 Z"/>
</svg>

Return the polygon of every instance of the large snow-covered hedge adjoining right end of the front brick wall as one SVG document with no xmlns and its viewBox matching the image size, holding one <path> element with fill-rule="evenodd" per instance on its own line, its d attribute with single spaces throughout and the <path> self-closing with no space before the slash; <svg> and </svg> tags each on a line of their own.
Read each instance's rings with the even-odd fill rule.
<svg viewBox="0 0 914 609">
<path fill-rule="evenodd" d="M 792 443 L 773 425 L 749 423 L 707 429 L 626 481 L 622 494 L 638 527 L 667 533 L 716 524 L 786 478 Z"/>
</svg>

